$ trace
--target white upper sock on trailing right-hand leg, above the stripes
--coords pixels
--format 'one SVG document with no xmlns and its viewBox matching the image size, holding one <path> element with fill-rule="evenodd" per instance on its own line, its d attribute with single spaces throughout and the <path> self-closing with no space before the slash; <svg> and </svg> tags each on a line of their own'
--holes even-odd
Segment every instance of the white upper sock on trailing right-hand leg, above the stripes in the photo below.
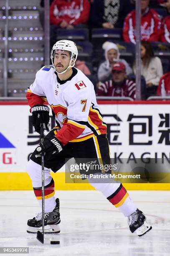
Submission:
<svg viewBox="0 0 170 256">
<path fill-rule="evenodd" d="M 94 174 L 95 177 L 96 174 Z M 99 173 L 99 175 L 102 175 Z M 89 183 L 97 190 L 103 193 L 105 197 L 112 195 L 120 186 L 120 183 L 114 181 L 114 179 L 104 179 L 104 178 L 89 178 Z"/>
</svg>

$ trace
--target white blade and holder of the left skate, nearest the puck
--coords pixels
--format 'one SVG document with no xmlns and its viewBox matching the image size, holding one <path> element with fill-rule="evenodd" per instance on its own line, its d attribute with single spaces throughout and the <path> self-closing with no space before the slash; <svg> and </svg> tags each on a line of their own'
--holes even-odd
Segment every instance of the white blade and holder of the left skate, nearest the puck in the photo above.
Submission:
<svg viewBox="0 0 170 256">
<path fill-rule="evenodd" d="M 27 233 L 36 234 L 38 231 L 42 232 L 42 227 L 33 228 L 30 226 L 27 226 Z M 47 225 L 44 227 L 44 234 L 51 234 L 51 233 L 53 233 L 53 234 L 60 233 L 59 225 Z"/>
</svg>

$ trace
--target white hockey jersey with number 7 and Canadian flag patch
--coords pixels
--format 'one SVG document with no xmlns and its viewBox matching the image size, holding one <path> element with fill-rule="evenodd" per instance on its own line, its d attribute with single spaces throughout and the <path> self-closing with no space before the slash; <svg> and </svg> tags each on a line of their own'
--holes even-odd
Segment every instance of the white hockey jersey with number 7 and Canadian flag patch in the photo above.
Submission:
<svg viewBox="0 0 170 256">
<path fill-rule="evenodd" d="M 79 69 L 73 68 L 71 77 L 61 81 L 51 65 L 41 68 L 26 97 L 31 108 L 48 101 L 60 129 L 56 137 L 63 145 L 107 133 L 94 86 Z"/>
</svg>

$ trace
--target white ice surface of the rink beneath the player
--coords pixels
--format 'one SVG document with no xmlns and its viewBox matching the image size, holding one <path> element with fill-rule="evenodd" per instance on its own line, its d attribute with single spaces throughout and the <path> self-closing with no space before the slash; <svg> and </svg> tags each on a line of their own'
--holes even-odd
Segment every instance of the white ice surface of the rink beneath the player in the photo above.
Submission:
<svg viewBox="0 0 170 256">
<path fill-rule="evenodd" d="M 170 191 L 129 191 L 152 230 L 132 234 L 124 218 L 101 193 L 59 191 L 61 233 L 45 235 L 41 244 L 26 232 L 27 220 L 40 212 L 33 191 L 0 192 L 0 246 L 29 247 L 29 256 L 168 256 Z M 60 241 L 51 245 L 50 241 Z M 9 254 L 2 254 L 9 255 Z"/>
</svg>

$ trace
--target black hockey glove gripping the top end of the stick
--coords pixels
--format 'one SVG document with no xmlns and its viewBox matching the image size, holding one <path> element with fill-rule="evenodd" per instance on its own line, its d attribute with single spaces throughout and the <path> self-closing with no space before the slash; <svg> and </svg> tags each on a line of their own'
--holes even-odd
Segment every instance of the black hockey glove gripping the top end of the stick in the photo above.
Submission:
<svg viewBox="0 0 170 256">
<path fill-rule="evenodd" d="M 44 123 L 46 126 L 46 130 L 48 130 L 48 123 L 50 121 L 49 117 L 49 108 L 46 105 L 34 105 L 31 108 L 32 115 L 32 123 L 37 133 L 40 133 L 40 125 Z"/>
</svg>

